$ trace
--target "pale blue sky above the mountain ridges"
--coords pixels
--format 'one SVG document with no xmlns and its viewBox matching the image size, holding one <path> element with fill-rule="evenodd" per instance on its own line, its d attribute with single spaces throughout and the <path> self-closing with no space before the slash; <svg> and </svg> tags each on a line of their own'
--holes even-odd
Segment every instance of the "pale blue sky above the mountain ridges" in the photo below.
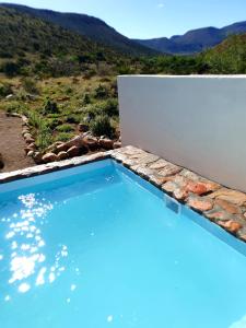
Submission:
<svg viewBox="0 0 246 328">
<path fill-rule="evenodd" d="M 7 0 L 8 1 L 8 0 Z M 246 21 L 246 0 L 15 0 L 97 16 L 128 37 L 151 38 Z"/>
</svg>

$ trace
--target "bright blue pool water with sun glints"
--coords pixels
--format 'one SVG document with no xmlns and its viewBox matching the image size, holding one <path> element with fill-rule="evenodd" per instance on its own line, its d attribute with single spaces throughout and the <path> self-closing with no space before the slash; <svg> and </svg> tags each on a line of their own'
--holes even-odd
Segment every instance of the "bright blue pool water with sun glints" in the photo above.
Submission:
<svg viewBox="0 0 246 328">
<path fill-rule="evenodd" d="M 244 253 L 109 160 L 5 184 L 0 327 L 245 328 Z"/>
</svg>

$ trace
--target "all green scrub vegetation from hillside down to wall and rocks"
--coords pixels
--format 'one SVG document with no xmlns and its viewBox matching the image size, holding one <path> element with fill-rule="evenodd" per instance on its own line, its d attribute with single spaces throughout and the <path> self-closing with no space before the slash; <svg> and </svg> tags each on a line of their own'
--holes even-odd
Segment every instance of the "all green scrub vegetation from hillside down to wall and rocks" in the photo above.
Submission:
<svg viewBox="0 0 246 328">
<path fill-rule="evenodd" d="M 0 109 L 28 117 L 39 151 L 79 125 L 117 139 L 117 74 L 246 73 L 246 35 L 197 56 L 134 57 L 3 7 L 0 32 Z"/>
</svg>

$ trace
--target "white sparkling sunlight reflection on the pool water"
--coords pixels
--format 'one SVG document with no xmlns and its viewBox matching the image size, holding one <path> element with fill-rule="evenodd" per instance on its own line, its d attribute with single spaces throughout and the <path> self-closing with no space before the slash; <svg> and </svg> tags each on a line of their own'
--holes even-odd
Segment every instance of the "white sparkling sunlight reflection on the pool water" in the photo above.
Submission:
<svg viewBox="0 0 246 328">
<path fill-rule="evenodd" d="M 52 265 L 46 263 L 45 239 L 40 226 L 45 224 L 46 215 L 54 209 L 50 202 L 44 198 L 38 201 L 38 194 L 22 195 L 19 197 L 21 210 L 10 218 L 3 218 L 1 222 L 10 222 L 5 239 L 10 249 L 9 284 L 16 284 L 20 293 L 28 292 L 32 286 L 52 283 L 65 271 L 61 266 L 62 258 L 68 257 L 68 247 L 59 245 L 55 254 Z M 7 255 L 1 254 L 0 260 Z M 31 279 L 32 277 L 32 279 Z M 75 286 L 72 286 L 74 290 Z M 5 295 L 4 301 L 10 301 L 11 295 Z"/>
</svg>

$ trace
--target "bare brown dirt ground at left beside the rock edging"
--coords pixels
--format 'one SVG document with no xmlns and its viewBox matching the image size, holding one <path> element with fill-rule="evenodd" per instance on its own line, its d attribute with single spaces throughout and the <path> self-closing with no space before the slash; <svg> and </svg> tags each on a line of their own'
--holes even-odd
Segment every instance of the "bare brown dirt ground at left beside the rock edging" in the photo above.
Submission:
<svg viewBox="0 0 246 328">
<path fill-rule="evenodd" d="M 21 119 L 7 117 L 0 112 L 0 153 L 4 162 L 4 167 L 0 169 L 0 173 L 35 165 L 31 157 L 25 156 L 24 148 Z"/>
</svg>

